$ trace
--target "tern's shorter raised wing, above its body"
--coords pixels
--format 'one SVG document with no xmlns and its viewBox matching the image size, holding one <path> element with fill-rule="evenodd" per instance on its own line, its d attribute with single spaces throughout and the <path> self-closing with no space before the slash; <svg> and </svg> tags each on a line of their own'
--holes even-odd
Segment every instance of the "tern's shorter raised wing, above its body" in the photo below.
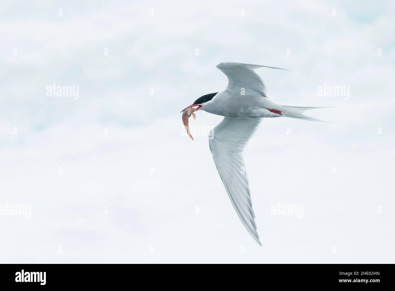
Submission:
<svg viewBox="0 0 395 291">
<path fill-rule="evenodd" d="M 229 80 L 228 87 L 226 87 L 225 91 L 230 91 L 233 94 L 240 94 L 242 88 L 244 88 L 245 95 L 258 94 L 266 97 L 265 85 L 260 76 L 254 72 L 254 69 L 261 67 L 285 70 L 282 68 L 230 62 L 217 65 L 217 68 L 219 68 Z"/>
</svg>

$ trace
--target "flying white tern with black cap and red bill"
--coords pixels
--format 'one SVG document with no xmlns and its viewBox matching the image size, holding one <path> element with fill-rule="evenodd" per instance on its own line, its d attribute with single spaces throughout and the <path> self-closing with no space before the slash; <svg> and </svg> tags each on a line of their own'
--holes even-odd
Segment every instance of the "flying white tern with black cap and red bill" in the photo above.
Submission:
<svg viewBox="0 0 395 291">
<path fill-rule="evenodd" d="M 199 97 L 194 103 L 181 111 L 193 108 L 195 112 L 204 110 L 224 116 L 222 122 L 210 132 L 210 137 L 212 137 L 212 139 L 209 139 L 210 150 L 237 215 L 260 245 L 262 244 L 256 231 L 255 215 L 252 210 L 250 188 L 242 155 L 243 150 L 260 126 L 262 118 L 291 117 L 322 121 L 306 116 L 303 112 L 324 108 L 285 106 L 271 101 L 266 96 L 262 79 L 254 71 L 254 69 L 262 67 L 285 70 L 276 67 L 231 62 L 218 64 L 217 68 L 228 77 L 228 87 L 222 92 Z M 186 120 L 188 120 L 188 117 Z M 188 133 L 188 135 L 190 134 Z"/>
</svg>

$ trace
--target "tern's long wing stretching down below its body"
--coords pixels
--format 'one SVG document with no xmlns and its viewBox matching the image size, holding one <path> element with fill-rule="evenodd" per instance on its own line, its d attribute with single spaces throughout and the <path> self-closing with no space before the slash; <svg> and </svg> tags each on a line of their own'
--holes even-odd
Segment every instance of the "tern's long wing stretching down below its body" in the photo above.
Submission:
<svg viewBox="0 0 395 291">
<path fill-rule="evenodd" d="M 213 128 L 212 139 L 209 139 L 214 163 L 230 201 L 248 232 L 260 245 L 242 154 L 261 121 L 262 118 L 225 117 Z"/>
</svg>

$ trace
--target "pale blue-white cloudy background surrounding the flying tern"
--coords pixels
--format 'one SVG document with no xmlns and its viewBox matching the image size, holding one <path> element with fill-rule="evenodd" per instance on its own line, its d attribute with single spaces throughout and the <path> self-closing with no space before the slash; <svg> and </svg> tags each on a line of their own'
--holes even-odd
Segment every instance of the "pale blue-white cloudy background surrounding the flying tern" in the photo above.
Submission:
<svg viewBox="0 0 395 291">
<path fill-rule="evenodd" d="M 0 4 L 0 260 L 394 262 L 393 1 Z M 198 52 L 198 53 L 197 53 Z M 263 120 L 246 147 L 260 247 L 239 221 L 197 112 L 224 61 L 325 124 Z M 79 86 L 73 97 L 47 86 Z M 318 86 L 348 86 L 320 97 Z M 152 95 L 153 93 L 153 95 Z M 192 132 L 193 133 L 193 132 Z M 302 205 L 303 217 L 271 205 Z"/>
</svg>

